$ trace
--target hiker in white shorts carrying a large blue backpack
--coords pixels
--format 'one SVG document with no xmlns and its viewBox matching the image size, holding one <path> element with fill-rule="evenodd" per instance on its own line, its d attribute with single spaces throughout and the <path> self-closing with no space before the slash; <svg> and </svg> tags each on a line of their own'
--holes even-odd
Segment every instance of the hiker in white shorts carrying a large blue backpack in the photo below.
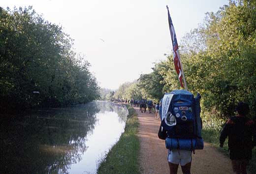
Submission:
<svg viewBox="0 0 256 174">
<path fill-rule="evenodd" d="M 194 98 L 187 90 L 174 90 L 160 100 L 158 137 L 168 149 L 170 174 L 177 174 L 179 164 L 183 174 L 191 174 L 192 151 L 203 149 L 200 98 L 200 94 Z"/>
</svg>

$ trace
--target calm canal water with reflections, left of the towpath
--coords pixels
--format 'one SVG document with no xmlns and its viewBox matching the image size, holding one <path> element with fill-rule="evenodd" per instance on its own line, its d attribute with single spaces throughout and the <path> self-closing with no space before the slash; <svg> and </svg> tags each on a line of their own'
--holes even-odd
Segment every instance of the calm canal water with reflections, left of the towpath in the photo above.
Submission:
<svg viewBox="0 0 256 174">
<path fill-rule="evenodd" d="M 0 174 L 96 174 L 127 116 L 108 102 L 9 116 L 0 123 Z"/>
</svg>

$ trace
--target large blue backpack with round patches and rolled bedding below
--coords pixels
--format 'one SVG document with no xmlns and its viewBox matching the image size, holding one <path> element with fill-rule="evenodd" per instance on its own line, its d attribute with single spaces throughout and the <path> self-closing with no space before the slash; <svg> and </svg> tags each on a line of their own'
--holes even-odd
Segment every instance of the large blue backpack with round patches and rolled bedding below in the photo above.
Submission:
<svg viewBox="0 0 256 174">
<path fill-rule="evenodd" d="M 168 149 L 203 149 L 200 94 L 187 90 L 165 93 L 160 101 L 161 126 L 167 132 Z"/>
</svg>

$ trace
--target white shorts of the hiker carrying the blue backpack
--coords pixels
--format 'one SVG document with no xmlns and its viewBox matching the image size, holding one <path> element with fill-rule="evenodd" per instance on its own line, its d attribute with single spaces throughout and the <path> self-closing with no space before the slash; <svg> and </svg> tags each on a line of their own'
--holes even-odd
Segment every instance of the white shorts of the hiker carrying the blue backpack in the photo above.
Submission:
<svg viewBox="0 0 256 174">
<path fill-rule="evenodd" d="M 192 161 L 192 151 L 173 149 L 168 150 L 168 162 L 185 166 Z"/>
</svg>

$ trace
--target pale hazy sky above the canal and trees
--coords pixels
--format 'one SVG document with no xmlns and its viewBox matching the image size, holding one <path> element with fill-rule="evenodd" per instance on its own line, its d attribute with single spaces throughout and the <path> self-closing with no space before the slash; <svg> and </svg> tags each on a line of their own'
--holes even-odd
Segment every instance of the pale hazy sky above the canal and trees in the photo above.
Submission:
<svg viewBox="0 0 256 174">
<path fill-rule="evenodd" d="M 29 6 L 74 39 L 74 48 L 86 55 L 101 87 L 150 73 L 153 62 L 171 50 L 166 5 L 178 44 L 228 0 L 1 0 L 0 6 Z M 181 58 L 182 59 L 182 58 Z M 186 72 L 185 72 L 186 73 Z"/>
</svg>

